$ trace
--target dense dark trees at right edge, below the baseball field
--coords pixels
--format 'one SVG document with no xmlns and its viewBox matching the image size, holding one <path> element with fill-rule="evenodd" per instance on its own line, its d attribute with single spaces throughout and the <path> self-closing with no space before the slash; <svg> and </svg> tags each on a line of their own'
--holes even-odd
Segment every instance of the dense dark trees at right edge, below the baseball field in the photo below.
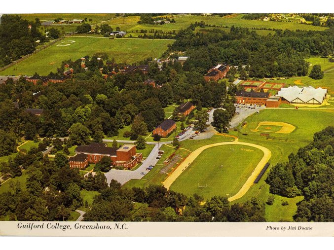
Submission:
<svg viewBox="0 0 334 250">
<path fill-rule="evenodd" d="M 334 127 L 314 134 L 313 142 L 289 155 L 269 173 L 270 192 L 286 197 L 303 195 L 296 221 L 334 221 Z"/>
</svg>

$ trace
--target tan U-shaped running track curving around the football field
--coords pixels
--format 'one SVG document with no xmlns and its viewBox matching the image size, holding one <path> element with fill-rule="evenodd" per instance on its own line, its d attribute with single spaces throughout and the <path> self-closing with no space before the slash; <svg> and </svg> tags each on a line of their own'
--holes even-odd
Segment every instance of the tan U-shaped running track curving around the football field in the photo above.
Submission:
<svg viewBox="0 0 334 250">
<path fill-rule="evenodd" d="M 222 134 L 221 134 L 222 135 Z M 227 135 L 225 135 L 227 136 Z M 268 160 L 271 157 L 271 151 L 263 146 L 253 144 L 253 143 L 243 143 L 243 142 L 238 142 L 238 138 L 235 138 L 235 141 L 233 142 L 224 142 L 224 143 L 213 143 L 209 145 L 204 145 L 199 148 L 197 148 L 195 151 L 191 152 L 189 156 L 177 167 L 177 169 L 174 170 L 174 172 L 163 182 L 163 185 L 169 189 L 172 183 L 182 174 L 184 170 L 197 158 L 197 156 L 202 153 L 205 149 L 214 147 L 214 146 L 221 146 L 221 145 L 247 145 L 247 146 L 252 146 L 255 148 L 260 149 L 263 151 L 263 157 L 258 163 L 258 165 L 255 167 L 253 170 L 252 174 L 250 177 L 246 180 L 244 185 L 241 187 L 241 189 L 233 196 L 228 198 L 228 201 L 234 201 L 236 199 L 241 198 L 246 194 L 248 189 L 253 185 L 254 180 L 258 177 L 260 174 L 261 170 L 263 169 L 264 165 L 268 162 Z"/>
</svg>

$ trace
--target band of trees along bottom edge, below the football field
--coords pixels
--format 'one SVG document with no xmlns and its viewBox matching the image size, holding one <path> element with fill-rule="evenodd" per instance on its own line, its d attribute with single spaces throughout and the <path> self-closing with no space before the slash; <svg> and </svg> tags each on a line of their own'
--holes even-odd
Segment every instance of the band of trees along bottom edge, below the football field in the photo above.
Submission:
<svg viewBox="0 0 334 250">
<path fill-rule="evenodd" d="M 163 186 L 120 188 L 111 181 L 93 201 L 85 221 L 265 221 L 264 204 L 253 198 L 230 206 L 226 197 L 214 196 L 204 206 L 203 197 L 168 191 Z M 134 202 L 142 208 L 134 211 Z M 176 213 L 181 209 L 182 213 Z"/>
</svg>

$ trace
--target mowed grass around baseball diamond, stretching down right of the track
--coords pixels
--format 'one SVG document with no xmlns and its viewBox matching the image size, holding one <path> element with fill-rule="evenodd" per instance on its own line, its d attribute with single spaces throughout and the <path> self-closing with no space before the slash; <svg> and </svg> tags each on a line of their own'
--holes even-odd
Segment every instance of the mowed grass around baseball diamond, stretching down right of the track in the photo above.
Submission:
<svg viewBox="0 0 334 250">
<path fill-rule="evenodd" d="M 238 200 L 232 202 L 243 203 L 256 197 L 266 202 L 269 193 L 269 185 L 265 183 L 270 169 L 280 162 L 287 162 L 291 153 L 297 153 L 300 147 L 306 146 L 313 140 L 315 132 L 321 131 L 327 126 L 334 124 L 334 110 L 324 109 L 264 109 L 259 114 L 255 113 L 246 118 L 247 126 L 239 126 L 239 131 L 231 131 L 230 134 L 239 137 L 240 142 L 255 143 L 268 148 L 271 153 L 270 167 L 264 173 L 259 183 L 254 184 L 247 193 Z M 265 132 L 270 135 L 269 139 L 260 136 L 261 132 L 251 132 L 261 121 L 281 121 L 294 125 L 296 129 L 291 134 L 277 134 Z M 263 133 L 263 132 L 262 132 Z M 243 135 L 244 134 L 244 135 Z M 303 197 L 286 198 L 275 195 L 274 205 L 266 206 L 265 218 L 267 221 L 292 221 L 296 213 L 296 203 Z M 288 206 L 282 206 L 282 201 L 288 201 Z"/>
</svg>

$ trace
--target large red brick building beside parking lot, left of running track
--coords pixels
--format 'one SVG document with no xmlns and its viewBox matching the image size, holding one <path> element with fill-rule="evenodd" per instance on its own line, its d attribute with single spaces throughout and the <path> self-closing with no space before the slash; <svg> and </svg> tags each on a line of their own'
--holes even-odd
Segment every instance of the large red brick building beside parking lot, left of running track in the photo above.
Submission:
<svg viewBox="0 0 334 250">
<path fill-rule="evenodd" d="M 125 144 L 120 148 L 107 147 L 105 143 L 92 143 L 90 145 L 77 146 L 76 154 L 83 153 L 87 156 L 87 161 L 97 163 L 104 156 L 111 159 L 113 166 L 131 169 L 142 161 L 143 155 L 136 152 L 136 145 Z"/>
</svg>

